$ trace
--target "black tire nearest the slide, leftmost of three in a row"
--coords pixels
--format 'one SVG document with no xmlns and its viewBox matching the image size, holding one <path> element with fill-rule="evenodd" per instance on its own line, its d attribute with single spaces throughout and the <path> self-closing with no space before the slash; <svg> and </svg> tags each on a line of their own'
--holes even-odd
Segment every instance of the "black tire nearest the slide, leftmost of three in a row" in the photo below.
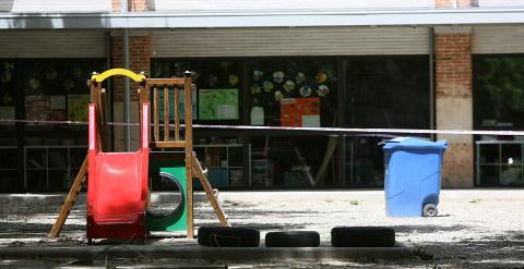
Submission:
<svg viewBox="0 0 524 269">
<path fill-rule="evenodd" d="M 201 227 L 196 239 L 202 246 L 258 247 L 260 231 L 239 227 Z"/>
</svg>

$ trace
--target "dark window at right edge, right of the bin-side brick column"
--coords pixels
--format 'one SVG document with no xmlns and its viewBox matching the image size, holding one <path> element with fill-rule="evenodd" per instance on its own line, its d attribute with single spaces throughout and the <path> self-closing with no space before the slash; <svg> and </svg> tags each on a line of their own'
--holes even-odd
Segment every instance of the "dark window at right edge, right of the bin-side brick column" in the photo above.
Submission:
<svg viewBox="0 0 524 269">
<path fill-rule="evenodd" d="M 474 126 L 524 129 L 524 56 L 474 56 Z M 524 137 L 476 138 L 476 184 L 524 185 Z"/>
</svg>

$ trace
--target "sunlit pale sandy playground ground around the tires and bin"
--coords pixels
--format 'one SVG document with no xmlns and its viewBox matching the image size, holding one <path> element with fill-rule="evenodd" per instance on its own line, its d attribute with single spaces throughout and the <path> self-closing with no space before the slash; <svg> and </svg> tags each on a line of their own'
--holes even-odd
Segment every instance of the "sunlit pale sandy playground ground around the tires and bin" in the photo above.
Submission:
<svg viewBox="0 0 524 269">
<path fill-rule="evenodd" d="M 236 227 L 266 232 L 313 230 L 330 246 L 337 225 L 384 225 L 396 241 L 415 253 L 408 260 L 266 260 L 235 264 L 204 262 L 201 268 L 524 268 L 524 189 L 442 191 L 439 216 L 389 218 L 382 191 L 221 192 L 219 200 Z M 4 199 L 5 200 L 5 199 Z M 0 247 L 85 245 L 85 203 L 72 210 L 59 240 L 47 240 L 60 203 L 7 201 L 0 206 Z M 209 203 L 195 204 L 195 225 L 216 224 Z M 183 240 L 182 240 L 183 241 Z M 177 244 L 163 239 L 150 244 Z M 140 255 L 139 255 L 140 256 Z M 140 257 L 139 257 L 140 258 Z M 75 265 L 71 260 L 1 260 L 0 267 L 171 267 L 176 259 L 102 260 Z M 189 266 L 189 265 L 188 265 Z M 195 265 L 192 265 L 195 266 Z M 183 267 L 183 266 L 182 266 Z M 194 268 L 194 267 L 193 267 Z"/>
</svg>

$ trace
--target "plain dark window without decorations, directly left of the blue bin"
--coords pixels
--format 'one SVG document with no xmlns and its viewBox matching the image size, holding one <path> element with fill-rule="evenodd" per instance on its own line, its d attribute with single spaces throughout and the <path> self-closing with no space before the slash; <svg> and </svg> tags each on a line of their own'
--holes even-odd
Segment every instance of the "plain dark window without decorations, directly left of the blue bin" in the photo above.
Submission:
<svg viewBox="0 0 524 269">
<path fill-rule="evenodd" d="M 345 68 L 346 122 L 352 127 L 428 129 L 427 56 L 350 58 Z M 345 136 L 345 184 L 382 186 L 378 146 L 391 135 Z"/>
</svg>

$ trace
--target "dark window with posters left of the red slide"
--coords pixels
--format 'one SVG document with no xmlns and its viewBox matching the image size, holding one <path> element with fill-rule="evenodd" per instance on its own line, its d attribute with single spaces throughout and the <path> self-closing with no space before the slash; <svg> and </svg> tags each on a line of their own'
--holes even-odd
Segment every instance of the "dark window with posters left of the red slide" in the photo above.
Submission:
<svg viewBox="0 0 524 269">
<path fill-rule="evenodd" d="M 20 68 L 26 120 L 87 122 L 86 80 L 92 72 L 105 70 L 105 59 L 36 59 L 21 61 Z M 85 126 L 28 123 L 26 131 L 83 131 Z"/>
</svg>

